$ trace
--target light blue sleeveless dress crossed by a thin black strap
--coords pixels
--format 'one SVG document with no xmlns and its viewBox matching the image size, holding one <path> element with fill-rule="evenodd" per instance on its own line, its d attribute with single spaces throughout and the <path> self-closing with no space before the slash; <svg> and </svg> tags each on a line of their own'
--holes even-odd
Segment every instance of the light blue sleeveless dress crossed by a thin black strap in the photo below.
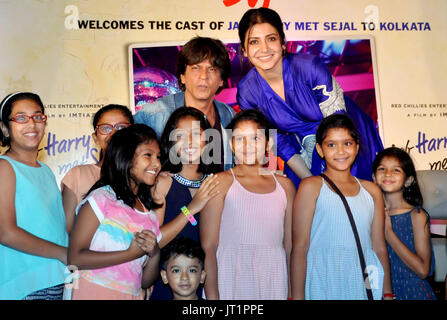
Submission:
<svg viewBox="0 0 447 320">
<path fill-rule="evenodd" d="M 322 178 L 323 179 L 323 178 Z M 382 298 L 383 268 L 372 248 L 374 200 L 361 183 L 346 197 L 359 233 L 375 300 Z M 306 300 L 367 299 L 360 260 L 346 209 L 338 194 L 322 182 L 310 233 L 305 285 Z"/>
</svg>

